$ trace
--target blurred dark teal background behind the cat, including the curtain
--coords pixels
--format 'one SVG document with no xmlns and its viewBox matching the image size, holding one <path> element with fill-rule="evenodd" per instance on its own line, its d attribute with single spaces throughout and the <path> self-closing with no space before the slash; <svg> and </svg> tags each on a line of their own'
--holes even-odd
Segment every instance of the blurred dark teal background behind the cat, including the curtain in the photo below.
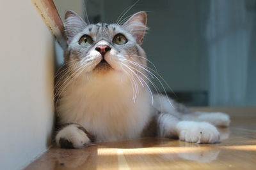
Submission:
<svg viewBox="0 0 256 170">
<path fill-rule="evenodd" d="M 147 11 L 149 31 L 143 48 L 172 88 L 174 93 L 164 85 L 169 96 L 188 106 L 256 106 L 255 0 L 54 3 L 62 20 L 67 10 L 86 20 L 87 11 L 91 23 L 113 23 L 124 13 L 125 20 Z"/>
</svg>

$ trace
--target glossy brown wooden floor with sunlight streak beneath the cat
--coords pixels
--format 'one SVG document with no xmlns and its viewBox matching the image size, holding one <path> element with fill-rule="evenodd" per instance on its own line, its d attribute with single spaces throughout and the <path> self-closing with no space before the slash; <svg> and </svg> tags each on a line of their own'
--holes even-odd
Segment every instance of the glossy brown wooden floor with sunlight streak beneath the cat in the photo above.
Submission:
<svg viewBox="0 0 256 170">
<path fill-rule="evenodd" d="M 145 138 L 74 150 L 53 147 L 26 169 L 256 169 L 256 109 L 239 109 L 244 111 L 221 110 L 230 113 L 232 124 L 220 129 L 218 144 Z"/>
</svg>

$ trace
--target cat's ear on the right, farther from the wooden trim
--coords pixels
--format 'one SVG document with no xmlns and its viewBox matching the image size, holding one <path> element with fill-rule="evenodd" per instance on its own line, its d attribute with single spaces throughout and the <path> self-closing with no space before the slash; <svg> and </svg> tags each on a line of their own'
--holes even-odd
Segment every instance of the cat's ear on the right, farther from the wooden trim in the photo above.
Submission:
<svg viewBox="0 0 256 170">
<path fill-rule="evenodd" d="M 139 45 L 143 43 L 144 34 L 147 31 L 147 13 L 140 11 L 132 15 L 127 22 L 124 23 L 124 27 L 136 38 Z"/>
</svg>

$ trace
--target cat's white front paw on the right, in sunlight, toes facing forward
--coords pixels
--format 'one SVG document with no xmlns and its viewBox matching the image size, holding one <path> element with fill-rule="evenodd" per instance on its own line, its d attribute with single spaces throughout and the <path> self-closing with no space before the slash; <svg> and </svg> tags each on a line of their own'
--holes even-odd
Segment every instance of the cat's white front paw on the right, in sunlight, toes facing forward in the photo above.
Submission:
<svg viewBox="0 0 256 170">
<path fill-rule="evenodd" d="M 177 124 L 179 139 L 191 143 L 217 143 L 220 141 L 220 132 L 206 122 L 182 121 Z"/>
</svg>

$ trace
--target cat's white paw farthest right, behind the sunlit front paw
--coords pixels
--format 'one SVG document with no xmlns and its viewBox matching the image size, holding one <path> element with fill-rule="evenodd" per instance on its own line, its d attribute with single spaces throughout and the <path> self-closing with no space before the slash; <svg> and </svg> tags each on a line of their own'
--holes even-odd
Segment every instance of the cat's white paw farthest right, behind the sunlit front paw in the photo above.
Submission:
<svg viewBox="0 0 256 170">
<path fill-rule="evenodd" d="M 203 113 L 198 116 L 200 121 L 209 122 L 212 125 L 228 127 L 230 124 L 230 118 L 226 113 Z"/>
</svg>

